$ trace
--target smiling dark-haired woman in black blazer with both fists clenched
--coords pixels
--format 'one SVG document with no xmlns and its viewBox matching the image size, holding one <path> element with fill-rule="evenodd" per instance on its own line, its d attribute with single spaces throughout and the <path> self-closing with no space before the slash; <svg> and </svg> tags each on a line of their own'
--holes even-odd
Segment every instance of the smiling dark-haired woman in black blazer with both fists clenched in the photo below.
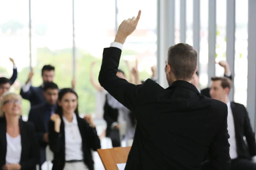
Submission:
<svg viewBox="0 0 256 170">
<path fill-rule="evenodd" d="M 100 140 L 91 117 L 79 117 L 77 99 L 70 88 L 59 91 L 56 113 L 49 121 L 52 170 L 94 170 L 91 149 L 99 149 Z"/>
</svg>

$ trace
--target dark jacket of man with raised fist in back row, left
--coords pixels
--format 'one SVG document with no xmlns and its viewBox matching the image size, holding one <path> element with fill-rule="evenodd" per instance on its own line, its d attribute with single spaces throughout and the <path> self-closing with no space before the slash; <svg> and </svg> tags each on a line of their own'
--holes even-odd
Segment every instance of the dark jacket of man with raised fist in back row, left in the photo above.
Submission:
<svg viewBox="0 0 256 170">
<path fill-rule="evenodd" d="M 20 95 L 23 99 L 29 100 L 31 108 L 34 106 L 43 105 L 46 102 L 45 97 L 43 95 L 43 88 L 41 86 L 30 86 L 29 91 L 27 91 L 26 93 L 24 93 L 24 91 L 21 88 Z"/>
</svg>

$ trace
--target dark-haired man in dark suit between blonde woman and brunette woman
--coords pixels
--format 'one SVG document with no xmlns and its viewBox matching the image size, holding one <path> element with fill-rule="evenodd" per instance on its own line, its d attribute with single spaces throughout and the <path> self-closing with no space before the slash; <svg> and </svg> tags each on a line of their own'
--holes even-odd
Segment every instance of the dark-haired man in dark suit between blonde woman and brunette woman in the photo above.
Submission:
<svg viewBox="0 0 256 170">
<path fill-rule="evenodd" d="M 28 119 L 29 122 L 35 125 L 35 132 L 40 144 L 40 166 L 46 161 L 45 148 L 48 144 L 48 122 L 56 108 L 58 86 L 54 82 L 45 83 L 43 95 L 46 103 L 32 108 Z"/>
</svg>

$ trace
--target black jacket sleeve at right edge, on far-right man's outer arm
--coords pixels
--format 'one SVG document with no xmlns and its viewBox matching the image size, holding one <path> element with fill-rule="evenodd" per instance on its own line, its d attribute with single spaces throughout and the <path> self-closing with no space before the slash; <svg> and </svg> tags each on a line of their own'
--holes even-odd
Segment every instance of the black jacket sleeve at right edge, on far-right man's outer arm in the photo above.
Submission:
<svg viewBox="0 0 256 170">
<path fill-rule="evenodd" d="M 247 141 L 247 144 L 249 147 L 250 156 L 256 156 L 255 136 L 254 136 L 251 124 L 250 124 L 250 118 L 248 116 L 248 113 L 247 113 L 247 110 L 245 107 L 244 107 L 244 113 L 245 113 L 244 136 L 246 138 L 246 141 Z"/>
</svg>

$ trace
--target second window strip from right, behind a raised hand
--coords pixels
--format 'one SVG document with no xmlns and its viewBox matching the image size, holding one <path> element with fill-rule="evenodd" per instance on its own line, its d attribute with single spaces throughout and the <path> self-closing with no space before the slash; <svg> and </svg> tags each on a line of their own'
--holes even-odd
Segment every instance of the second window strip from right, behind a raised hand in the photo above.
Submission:
<svg viewBox="0 0 256 170">
<path fill-rule="evenodd" d="M 216 0 L 216 61 L 226 60 L 227 0 Z M 209 61 L 214 62 L 214 61 Z M 216 76 L 224 75 L 224 68 L 215 65 Z"/>
</svg>

